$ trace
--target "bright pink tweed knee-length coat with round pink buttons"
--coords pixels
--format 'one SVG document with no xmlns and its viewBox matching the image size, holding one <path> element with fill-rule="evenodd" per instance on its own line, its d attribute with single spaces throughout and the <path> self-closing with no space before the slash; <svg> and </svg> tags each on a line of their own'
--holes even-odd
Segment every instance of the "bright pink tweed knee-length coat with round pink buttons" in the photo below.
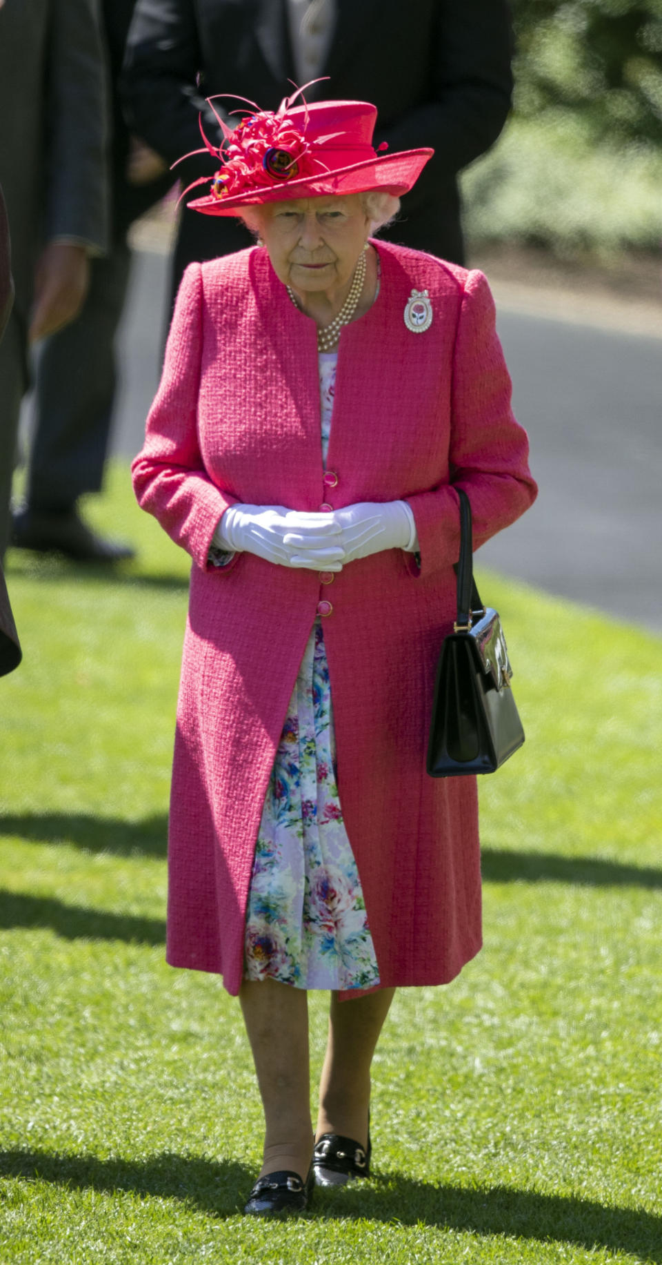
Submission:
<svg viewBox="0 0 662 1265">
<path fill-rule="evenodd" d="M 373 243 L 382 285 L 340 338 L 327 473 L 316 326 L 264 249 L 191 264 L 133 466 L 143 509 L 193 558 L 169 822 L 168 961 L 236 993 L 267 783 L 321 600 L 337 784 L 382 984 L 438 984 L 481 944 L 472 778 L 424 770 L 435 667 L 455 614 L 459 501 L 476 545 L 533 501 L 524 430 L 484 276 Z M 433 321 L 412 333 L 412 292 Z M 454 486 L 455 484 L 455 486 Z M 236 502 L 317 510 L 406 498 L 419 541 L 354 562 L 332 584 L 238 554 L 207 564 Z"/>
</svg>

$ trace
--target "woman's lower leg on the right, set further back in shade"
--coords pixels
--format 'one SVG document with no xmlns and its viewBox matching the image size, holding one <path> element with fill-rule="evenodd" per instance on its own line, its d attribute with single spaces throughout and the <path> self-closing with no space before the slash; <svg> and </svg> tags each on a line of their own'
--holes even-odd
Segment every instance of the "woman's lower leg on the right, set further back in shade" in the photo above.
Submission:
<svg viewBox="0 0 662 1265">
<path fill-rule="evenodd" d="M 331 994 L 316 1137 L 341 1133 L 368 1146 L 370 1064 L 394 988 L 339 1002 Z"/>
</svg>

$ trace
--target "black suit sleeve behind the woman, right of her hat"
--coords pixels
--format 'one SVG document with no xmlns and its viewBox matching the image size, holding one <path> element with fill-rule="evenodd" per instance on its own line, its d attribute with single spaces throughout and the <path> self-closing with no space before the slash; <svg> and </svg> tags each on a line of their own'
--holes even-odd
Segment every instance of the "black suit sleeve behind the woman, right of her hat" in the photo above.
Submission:
<svg viewBox="0 0 662 1265">
<path fill-rule="evenodd" d="M 496 140 L 513 91 L 513 37 L 505 0 L 437 0 L 428 100 L 379 132 L 390 149 L 432 145 L 452 176 Z M 416 197 L 416 194 L 414 194 Z"/>
</svg>

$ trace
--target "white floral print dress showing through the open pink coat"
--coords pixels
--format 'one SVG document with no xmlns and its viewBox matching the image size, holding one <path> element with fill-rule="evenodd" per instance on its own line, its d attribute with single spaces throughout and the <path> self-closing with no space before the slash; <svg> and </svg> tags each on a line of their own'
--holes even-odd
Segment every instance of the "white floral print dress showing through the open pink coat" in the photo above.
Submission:
<svg viewBox="0 0 662 1265">
<path fill-rule="evenodd" d="M 326 466 L 337 353 L 320 354 Z M 267 788 L 246 907 L 245 978 L 374 988 L 379 970 L 335 774 L 321 620 L 312 627 Z"/>
</svg>

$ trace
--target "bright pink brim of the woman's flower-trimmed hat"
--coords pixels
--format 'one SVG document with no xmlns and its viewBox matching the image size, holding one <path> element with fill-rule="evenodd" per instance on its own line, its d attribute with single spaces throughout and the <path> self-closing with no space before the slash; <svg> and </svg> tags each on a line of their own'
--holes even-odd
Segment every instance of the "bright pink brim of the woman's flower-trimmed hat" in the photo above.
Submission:
<svg viewBox="0 0 662 1265">
<path fill-rule="evenodd" d="M 382 190 L 400 197 L 416 185 L 433 149 L 406 149 L 402 153 L 383 154 L 352 163 L 339 171 L 325 171 L 318 176 L 299 176 L 298 180 L 251 188 L 230 197 L 196 197 L 187 202 L 193 211 L 203 215 L 235 215 L 241 206 L 262 206 L 265 202 L 284 202 L 294 197 L 323 197 L 323 195 L 349 196 Z"/>
</svg>

